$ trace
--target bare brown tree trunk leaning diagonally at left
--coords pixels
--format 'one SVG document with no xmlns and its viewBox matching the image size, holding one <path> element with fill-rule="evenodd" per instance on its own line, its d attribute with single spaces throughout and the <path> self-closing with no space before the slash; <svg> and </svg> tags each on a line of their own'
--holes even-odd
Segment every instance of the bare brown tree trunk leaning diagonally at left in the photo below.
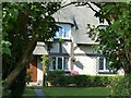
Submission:
<svg viewBox="0 0 131 98">
<path fill-rule="evenodd" d="M 32 52 L 33 52 L 33 50 L 34 50 L 34 48 L 36 46 L 37 40 L 38 40 L 38 35 L 36 35 L 35 38 L 33 38 L 32 41 L 28 42 L 28 45 L 27 45 L 28 47 L 25 50 L 25 53 L 22 56 L 22 59 L 17 63 L 16 68 L 5 78 L 5 83 L 8 85 L 5 87 L 3 87 L 3 89 L 8 89 L 11 86 L 11 84 L 16 78 L 16 76 L 19 75 L 19 73 L 26 65 L 26 62 L 27 62 L 28 58 L 31 57 L 31 54 L 32 54 Z"/>
</svg>

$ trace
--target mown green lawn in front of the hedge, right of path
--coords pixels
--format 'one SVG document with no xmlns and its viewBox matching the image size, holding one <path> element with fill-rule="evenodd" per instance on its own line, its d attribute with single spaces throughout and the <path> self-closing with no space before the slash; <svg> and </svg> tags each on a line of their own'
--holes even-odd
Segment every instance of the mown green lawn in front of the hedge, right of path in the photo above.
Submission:
<svg viewBox="0 0 131 98">
<path fill-rule="evenodd" d="M 44 87 L 44 93 L 47 96 L 92 96 L 92 97 L 105 97 L 108 96 L 110 89 L 107 87 Z"/>
</svg>

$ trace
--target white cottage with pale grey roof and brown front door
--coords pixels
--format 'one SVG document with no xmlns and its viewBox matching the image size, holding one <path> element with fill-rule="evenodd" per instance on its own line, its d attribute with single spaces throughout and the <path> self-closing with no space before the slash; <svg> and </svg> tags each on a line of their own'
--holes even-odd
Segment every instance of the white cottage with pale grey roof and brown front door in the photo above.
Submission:
<svg viewBox="0 0 131 98">
<path fill-rule="evenodd" d="M 94 9 L 98 10 L 95 5 Z M 94 16 L 95 12 L 90 8 L 68 5 L 56 12 L 52 16 L 59 30 L 56 32 L 53 39 L 48 40 L 51 48 L 46 42 L 38 41 L 33 51 L 34 61 L 29 64 L 32 73 L 32 83 L 43 85 L 43 65 L 40 56 L 47 54 L 50 58 L 49 70 L 63 70 L 66 72 L 74 71 L 76 74 L 110 74 L 108 61 L 96 51 L 98 42 L 88 37 L 87 24 L 102 26 Z"/>
</svg>

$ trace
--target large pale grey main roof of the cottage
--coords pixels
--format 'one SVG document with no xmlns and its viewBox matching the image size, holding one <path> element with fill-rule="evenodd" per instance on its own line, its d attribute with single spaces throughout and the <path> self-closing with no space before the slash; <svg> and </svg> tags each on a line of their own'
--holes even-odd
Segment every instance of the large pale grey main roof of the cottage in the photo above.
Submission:
<svg viewBox="0 0 131 98">
<path fill-rule="evenodd" d="M 94 8 L 98 10 L 96 7 Z M 98 17 L 95 17 L 94 14 L 95 12 L 86 5 L 75 7 L 72 4 L 60 9 L 52 16 L 56 22 L 70 23 L 74 25 L 71 33 L 73 42 L 93 44 L 94 40 L 92 40 L 87 35 L 87 24 L 95 26 L 104 25 L 99 23 Z M 107 25 L 107 23 L 105 23 L 105 25 Z"/>
</svg>

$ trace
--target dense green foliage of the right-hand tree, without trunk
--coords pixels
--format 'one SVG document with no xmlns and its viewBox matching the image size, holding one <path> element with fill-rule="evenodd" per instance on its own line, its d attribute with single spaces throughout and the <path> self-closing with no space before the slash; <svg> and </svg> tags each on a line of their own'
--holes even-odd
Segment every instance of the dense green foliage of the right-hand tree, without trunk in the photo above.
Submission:
<svg viewBox="0 0 131 98">
<path fill-rule="evenodd" d="M 102 13 L 103 16 L 108 15 L 111 24 L 99 35 L 100 49 L 109 56 L 111 66 L 116 70 L 122 68 L 126 75 L 131 74 L 130 9 L 131 3 L 128 2 L 105 4 Z"/>
</svg>

